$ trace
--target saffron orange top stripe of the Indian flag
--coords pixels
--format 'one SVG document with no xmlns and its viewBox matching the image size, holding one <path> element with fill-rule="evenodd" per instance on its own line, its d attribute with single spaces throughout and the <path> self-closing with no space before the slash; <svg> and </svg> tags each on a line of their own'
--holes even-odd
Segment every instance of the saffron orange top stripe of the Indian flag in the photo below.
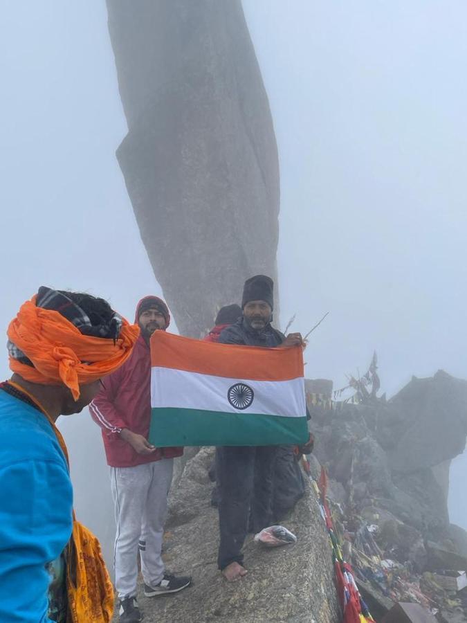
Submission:
<svg viewBox="0 0 467 623">
<path fill-rule="evenodd" d="M 151 337 L 153 367 L 210 374 L 230 379 L 289 381 L 303 377 L 300 347 L 261 348 L 219 344 L 155 331 Z"/>
</svg>

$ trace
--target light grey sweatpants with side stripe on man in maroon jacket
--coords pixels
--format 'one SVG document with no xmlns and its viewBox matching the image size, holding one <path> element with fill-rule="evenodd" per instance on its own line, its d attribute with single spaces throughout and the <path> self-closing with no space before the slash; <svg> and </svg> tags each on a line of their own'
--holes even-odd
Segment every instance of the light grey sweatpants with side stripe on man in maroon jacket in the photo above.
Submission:
<svg viewBox="0 0 467 623">
<path fill-rule="evenodd" d="M 145 584 L 154 586 L 163 578 L 161 549 L 173 468 L 173 459 L 110 468 L 117 524 L 113 564 L 120 599 L 136 595 L 138 550 Z"/>
</svg>

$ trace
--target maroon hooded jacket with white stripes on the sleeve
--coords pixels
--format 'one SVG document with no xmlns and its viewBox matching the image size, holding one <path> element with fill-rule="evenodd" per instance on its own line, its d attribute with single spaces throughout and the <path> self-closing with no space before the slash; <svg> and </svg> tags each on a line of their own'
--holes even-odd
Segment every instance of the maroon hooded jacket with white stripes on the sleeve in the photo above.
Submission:
<svg viewBox="0 0 467 623">
<path fill-rule="evenodd" d="M 136 308 L 137 318 L 143 300 Z M 183 454 L 183 448 L 161 448 L 151 454 L 138 454 L 120 437 L 122 428 L 144 435 L 146 439 L 149 435 L 151 356 L 143 336 L 139 336 L 129 359 L 116 372 L 104 377 L 103 383 L 104 387 L 89 405 L 89 412 L 102 428 L 107 463 L 111 467 L 134 467 Z"/>
</svg>

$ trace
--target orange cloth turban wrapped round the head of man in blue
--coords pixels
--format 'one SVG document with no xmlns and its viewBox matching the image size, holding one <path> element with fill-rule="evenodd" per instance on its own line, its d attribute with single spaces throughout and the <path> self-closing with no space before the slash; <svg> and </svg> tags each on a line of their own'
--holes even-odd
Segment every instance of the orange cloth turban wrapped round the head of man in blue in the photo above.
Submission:
<svg viewBox="0 0 467 623">
<path fill-rule="evenodd" d="M 10 368 L 31 383 L 70 388 L 80 397 L 80 384 L 93 383 L 124 363 L 140 329 L 122 319 L 118 338 L 83 335 L 53 309 L 36 306 L 37 295 L 26 301 L 8 327 L 8 338 L 34 367 L 10 354 Z"/>
</svg>

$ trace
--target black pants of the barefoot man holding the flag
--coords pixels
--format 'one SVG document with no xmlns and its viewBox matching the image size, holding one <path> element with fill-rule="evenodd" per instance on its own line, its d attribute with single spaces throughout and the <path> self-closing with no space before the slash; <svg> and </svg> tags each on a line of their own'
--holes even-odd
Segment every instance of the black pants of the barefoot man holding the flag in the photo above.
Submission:
<svg viewBox="0 0 467 623">
<path fill-rule="evenodd" d="M 248 531 L 271 525 L 273 469 L 277 446 L 223 446 L 216 452 L 221 543 L 217 563 L 224 569 L 243 563 L 241 548 Z"/>
</svg>

